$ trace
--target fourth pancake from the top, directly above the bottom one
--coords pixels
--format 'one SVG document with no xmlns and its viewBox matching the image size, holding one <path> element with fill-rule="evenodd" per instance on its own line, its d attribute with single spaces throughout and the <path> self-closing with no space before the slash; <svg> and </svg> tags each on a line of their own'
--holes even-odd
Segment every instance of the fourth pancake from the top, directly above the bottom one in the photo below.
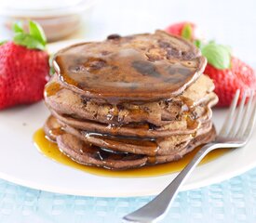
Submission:
<svg viewBox="0 0 256 223">
<path fill-rule="evenodd" d="M 178 135 L 168 138 L 128 138 L 120 136 L 102 135 L 99 133 L 88 133 L 80 131 L 68 125 L 56 125 L 57 120 L 50 116 L 46 123 L 47 135 L 51 138 L 52 131 L 61 131 L 74 135 L 87 144 L 99 146 L 112 151 L 129 152 L 133 154 L 145 154 L 148 156 L 169 155 L 180 151 L 195 137 L 206 134 L 211 129 L 211 123 L 207 122 L 197 129 L 195 135 Z M 53 128 L 53 126 L 58 126 Z M 53 130 L 52 130 L 53 129 Z M 57 132 L 58 133 L 58 132 Z"/>
</svg>

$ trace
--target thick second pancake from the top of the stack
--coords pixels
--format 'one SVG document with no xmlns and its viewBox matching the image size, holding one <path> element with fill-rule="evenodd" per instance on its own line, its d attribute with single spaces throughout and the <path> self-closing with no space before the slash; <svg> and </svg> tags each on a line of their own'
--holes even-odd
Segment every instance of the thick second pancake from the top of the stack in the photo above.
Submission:
<svg viewBox="0 0 256 223">
<path fill-rule="evenodd" d="M 214 97 L 212 93 L 214 85 L 206 75 L 200 76 L 182 93 L 182 96 L 140 105 L 123 103 L 115 106 L 95 99 L 83 98 L 69 89 L 56 87 L 59 82 L 55 75 L 46 86 L 45 100 L 51 110 L 60 114 L 70 114 L 78 119 L 97 120 L 100 123 L 114 125 L 134 122 L 167 125 L 180 118 L 182 112 Z"/>
</svg>

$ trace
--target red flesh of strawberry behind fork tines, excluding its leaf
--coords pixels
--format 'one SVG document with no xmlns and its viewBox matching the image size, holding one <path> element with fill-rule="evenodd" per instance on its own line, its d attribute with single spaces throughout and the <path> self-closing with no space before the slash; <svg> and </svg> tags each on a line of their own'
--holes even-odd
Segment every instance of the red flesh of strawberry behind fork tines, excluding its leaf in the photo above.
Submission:
<svg viewBox="0 0 256 223">
<path fill-rule="evenodd" d="M 249 89 L 256 90 L 256 75 L 252 68 L 240 59 L 231 59 L 231 68 L 217 69 L 208 63 L 205 73 L 213 79 L 215 92 L 219 97 L 218 106 L 229 106 L 240 89 L 241 95 Z"/>
</svg>

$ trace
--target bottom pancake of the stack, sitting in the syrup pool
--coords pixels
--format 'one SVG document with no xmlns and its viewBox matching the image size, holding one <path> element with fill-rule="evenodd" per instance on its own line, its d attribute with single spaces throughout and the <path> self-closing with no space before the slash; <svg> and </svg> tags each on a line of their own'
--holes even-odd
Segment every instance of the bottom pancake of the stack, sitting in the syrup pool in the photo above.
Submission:
<svg viewBox="0 0 256 223">
<path fill-rule="evenodd" d="M 56 125 L 55 125 L 56 127 Z M 215 130 L 212 128 L 209 133 L 194 138 L 185 147 L 168 155 L 146 156 L 128 152 L 116 152 L 106 150 L 86 143 L 72 134 L 67 134 L 57 127 L 57 131 L 51 129 L 50 137 L 55 138 L 61 152 L 80 164 L 102 166 L 110 169 L 127 169 L 140 167 L 146 164 L 163 164 L 181 159 L 184 154 L 192 151 L 196 146 L 207 143 L 215 137 Z"/>
</svg>

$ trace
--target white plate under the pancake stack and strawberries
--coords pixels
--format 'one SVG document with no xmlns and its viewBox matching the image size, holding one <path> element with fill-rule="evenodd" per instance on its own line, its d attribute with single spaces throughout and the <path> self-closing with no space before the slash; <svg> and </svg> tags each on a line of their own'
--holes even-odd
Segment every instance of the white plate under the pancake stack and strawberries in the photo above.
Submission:
<svg viewBox="0 0 256 223">
<path fill-rule="evenodd" d="M 60 47 L 58 45 L 57 47 Z M 176 174 L 161 177 L 98 177 L 57 164 L 34 147 L 33 134 L 47 119 L 43 102 L 0 112 L 0 177 L 38 190 L 86 196 L 154 195 L 163 190 Z M 224 110 L 214 111 L 217 129 Z M 182 190 L 203 187 L 239 175 L 256 166 L 256 131 L 249 144 L 196 167 Z"/>
</svg>

